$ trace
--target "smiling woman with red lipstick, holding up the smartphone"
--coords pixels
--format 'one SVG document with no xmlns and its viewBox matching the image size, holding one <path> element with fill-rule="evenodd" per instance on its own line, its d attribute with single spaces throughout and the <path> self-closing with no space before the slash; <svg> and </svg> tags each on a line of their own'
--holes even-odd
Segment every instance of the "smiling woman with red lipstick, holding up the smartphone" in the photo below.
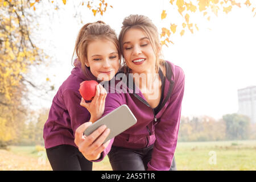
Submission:
<svg viewBox="0 0 256 182">
<path fill-rule="evenodd" d="M 100 161 L 108 154 L 113 170 L 175 169 L 184 72 L 159 58 L 158 30 L 146 16 L 130 15 L 123 20 L 119 44 L 125 60 L 122 71 L 127 77 L 123 80 L 133 83 L 122 84 L 129 92 L 108 94 L 103 115 L 126 104 L 137 123 L 112 139 L 101 155 L 87 149 L 93 141 L 82 138 L 86 124 L 77 128 L 75 143 L 88 160 Z"/>
</svg>

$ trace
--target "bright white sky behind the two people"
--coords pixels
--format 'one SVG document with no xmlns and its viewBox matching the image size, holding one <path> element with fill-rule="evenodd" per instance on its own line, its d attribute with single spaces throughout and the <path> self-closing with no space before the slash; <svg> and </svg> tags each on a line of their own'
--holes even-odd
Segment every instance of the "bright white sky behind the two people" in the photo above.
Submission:
<svg viewBox="0 0 256 182">
<path fill-rule="evenodd" d="M 170 26 L 170 21 L 181 16 L 169 6 L 168 1 L 109 1 L 106 13 L 92 14 L 92 11 L 79 7 L 80 19 L 74 17 L 73 6 L 64 6 L 57 14 L 43 16 L 38 25 L 38 47 L 44 49 L 51 62 L 47 67 L 34 71 L 38 80 L 50 78 L 55 90 L 43 98 L 36 98 L 32 107 L 50 107 L 52 98 L 62 82 L 69 76 L 76 36 L 83 24 L 103 20 L 119 33 L 122 20 L 130 14 L 148 16 L 156 27 Z M 162 10 L 169 18 L 161 20 Z M 40 11 L 37 11 L 40 14 Z M 172 38 L 174 44 L 163 47 L 164 59 L 181 67 L 185 73 L 185 92 L 181 115 L 208 115 L 221 118 L 224 114 L 238 111 L 237 90 L 256 85 L 256 16 L 251 11 L 233 8 L 228 15 L 219 13 L 210 21 L 195 16 L 199 31 Z M 82 23 L 81 23 L 82 20 Z M 31 96 L 33 97 L 33 96 Z"/>
</svg>

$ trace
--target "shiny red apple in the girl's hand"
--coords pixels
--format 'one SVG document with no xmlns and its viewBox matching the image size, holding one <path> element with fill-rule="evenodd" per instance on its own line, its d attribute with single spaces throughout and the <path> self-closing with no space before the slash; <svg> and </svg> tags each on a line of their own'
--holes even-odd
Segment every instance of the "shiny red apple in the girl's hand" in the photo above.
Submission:
<svg viewBox="0 0 256 182">
<path fill-rule="evenodd" d="M 91 101 L 96 94 L 96 86 L 98 82 L 95 80 L 83 81 L 80 84 L 79 92 L 86 101 Z"/>
</svg>

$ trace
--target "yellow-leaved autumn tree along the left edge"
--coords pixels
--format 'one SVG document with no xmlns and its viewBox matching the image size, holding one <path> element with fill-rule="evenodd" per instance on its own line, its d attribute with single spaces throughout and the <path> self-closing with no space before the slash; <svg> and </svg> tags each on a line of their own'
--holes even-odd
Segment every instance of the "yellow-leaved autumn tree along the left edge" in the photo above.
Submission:
<svg viewBox="0 0 256 182">
<path fill-rule="evenodd" d="M 0 1 L 0 141 L 14 140 L 26 115 L 22 98 L 32 65 L 42 62 L 43 52 L 31 39 L 29 1 Z M 23 115 L 23 116 L 22 116 Z"/>
</svg>

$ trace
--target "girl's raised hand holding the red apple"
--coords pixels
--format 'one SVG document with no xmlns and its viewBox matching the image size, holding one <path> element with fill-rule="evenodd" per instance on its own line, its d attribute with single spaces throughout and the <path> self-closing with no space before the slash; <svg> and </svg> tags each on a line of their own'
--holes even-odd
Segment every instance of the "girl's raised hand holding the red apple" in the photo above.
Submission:
<svg viewBox="0 0 256 182">
<path fill-rule="evenodd" d="M 96 86 L 96 94 L 90 103 L 86 103 L 84 98 L 81 99 L 80 105 L 84 106 L 90 112 L 90 122 L 95 122 L 101 117 L 105 109 L 105 100 L 107 92 L 101 84 Z"/>
</svg>

